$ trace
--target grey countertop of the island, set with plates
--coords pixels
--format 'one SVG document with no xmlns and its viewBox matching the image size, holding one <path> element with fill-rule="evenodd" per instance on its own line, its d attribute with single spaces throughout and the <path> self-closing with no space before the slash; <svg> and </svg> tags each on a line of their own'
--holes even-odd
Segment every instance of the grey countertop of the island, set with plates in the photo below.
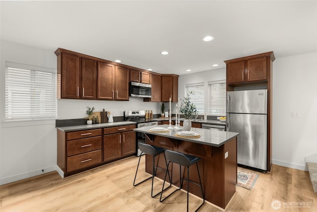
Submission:
<svg viewBox="0 0 317 212">
<path fill-rule="evenodd" d="M 187 139 L 187 138 L 176 137 L 175 134 L 179 131 L 177 131 L 177 132 L 176 131 L 169 131 L 168 133 L 149 132 L 149 130 L 153 127 L 154 126 L 146 126 L 146 127 L 136 128 L 136 129 L 134 129 L 134 131 L 146 133 L 146 134 L 150 134 L 150 135 L 167 137 L 167 138 L 176 139 L 176 140 L 201 143 L 201 144 L 211 145 L 211 146 L 216 146 L 216 147 L 221 146 L 225 142 L 227 142 L 230 139 L 237 137 L 239 135 L 239 133 L 234 133 L 234 132 L 217 131 L 217 130 L 201 129 L 201 128 L 192 128 L 191 131 L 198 133 L 201 137 L 197 138 L 197 139 Z M 159 125 L 159 127 L 167 128 L 168 125 Z M 172 127 L 175 127 L 175 126 L 172 126 Z"/>
</svg>

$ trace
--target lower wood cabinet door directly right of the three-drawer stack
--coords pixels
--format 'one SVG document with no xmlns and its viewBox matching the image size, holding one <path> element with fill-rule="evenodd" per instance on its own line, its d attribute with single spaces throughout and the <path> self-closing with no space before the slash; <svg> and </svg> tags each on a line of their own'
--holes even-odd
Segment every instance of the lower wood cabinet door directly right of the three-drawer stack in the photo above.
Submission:
<svg viewBox="0 0 317 212">
<path fill-rule="evenodd" d="M 104 161 L 121 157 L 121 133 L 104 136 Z"/>
</svg>

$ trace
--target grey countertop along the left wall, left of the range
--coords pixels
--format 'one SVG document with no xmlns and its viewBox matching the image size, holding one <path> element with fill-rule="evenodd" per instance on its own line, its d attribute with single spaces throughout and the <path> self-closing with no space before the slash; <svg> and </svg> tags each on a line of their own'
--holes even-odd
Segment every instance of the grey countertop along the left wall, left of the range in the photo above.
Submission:
<svg viewBox="0 0 317 212">
<path fill-rule="evenodd" d="M 63 132 L 71 132 L 78 130 L 92 130 L 98 128 L 107 128 L 107 127 L 116 127 L 122 125 L 135 125 L 136 122 L 110 122 L 110 123 L 102 123 L 102 124 L 92 124 L 92 125 L 78 125 L 78 126 L 69 126 L 69 127 L 56 127 L 58 130 Z"/>
</svg>

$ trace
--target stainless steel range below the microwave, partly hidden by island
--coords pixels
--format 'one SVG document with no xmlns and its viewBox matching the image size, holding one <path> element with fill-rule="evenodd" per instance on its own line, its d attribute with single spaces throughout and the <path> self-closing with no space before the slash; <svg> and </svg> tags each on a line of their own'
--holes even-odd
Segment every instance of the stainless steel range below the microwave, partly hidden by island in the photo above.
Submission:
<svg viewBox="0 0 317 212">
<path fill-rule="evenodd" d="M 123 114 L 124 121 L 136 122 L 137 128 L 158 125 L 157 120 L 153 119 L 145 119 L 145 110 L 126 110 Z M 144 133 L 137 132 L 136 134 L 136 152 L 137 156 L 140 156 L 141 151 L 138 148 L 138 142 L 145 143 L 145 135 Z"/>
</svg>

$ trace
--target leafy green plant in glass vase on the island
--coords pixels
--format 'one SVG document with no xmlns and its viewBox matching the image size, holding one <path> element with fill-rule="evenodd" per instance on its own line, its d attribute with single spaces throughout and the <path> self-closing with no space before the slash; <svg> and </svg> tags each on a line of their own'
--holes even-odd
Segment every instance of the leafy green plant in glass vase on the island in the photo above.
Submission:
<svg viewBox="0 0 317 212">
<path fill-rule="evenodd" d="M 193 94 L 193 92 L 190 92 L 187 94 L 186 97 L 181 99 L 181 105 L 179 107 L 179 112 L 182 113 L 185 117 L 185 120 L 183 122 L 183 130 L 184 131 L 190 131 L 192 127 L 191 117 L 197 112 L 196 106 L 193 102 L 191 102 L 190 96 Z"/>
</svg>

